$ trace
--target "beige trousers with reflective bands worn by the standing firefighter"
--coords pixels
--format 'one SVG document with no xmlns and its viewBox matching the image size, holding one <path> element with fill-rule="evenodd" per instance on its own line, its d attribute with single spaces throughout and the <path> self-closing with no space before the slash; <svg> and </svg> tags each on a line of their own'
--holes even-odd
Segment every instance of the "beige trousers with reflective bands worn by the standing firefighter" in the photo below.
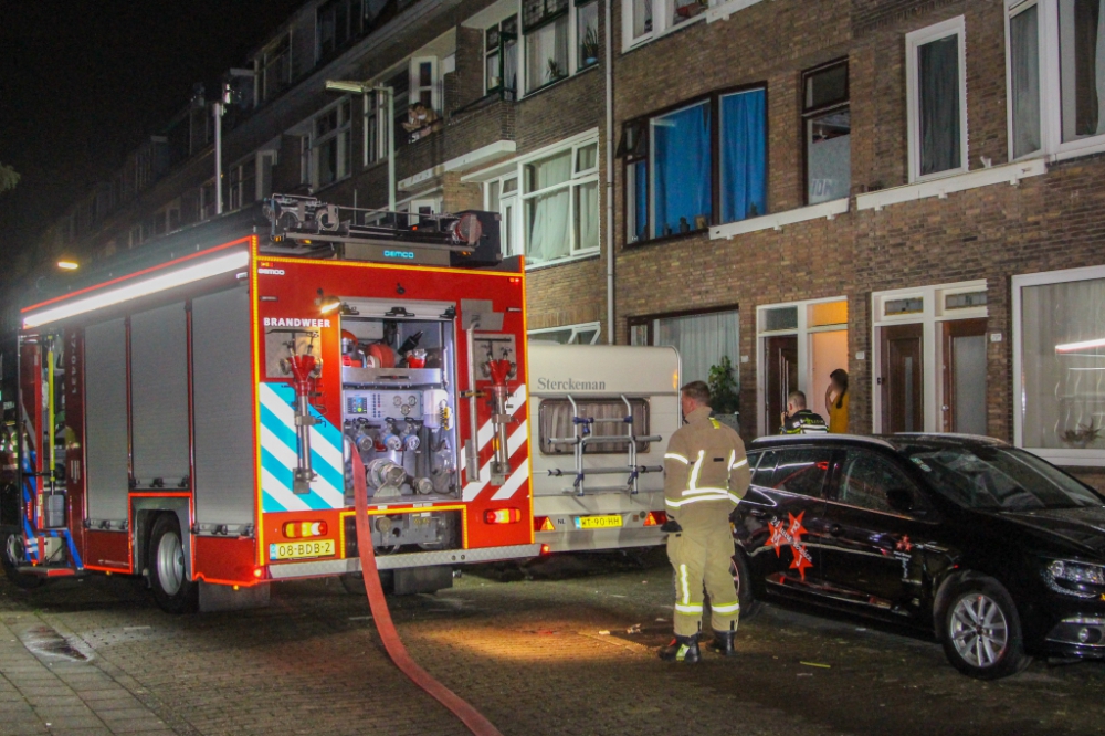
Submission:
<svg viewBox="0 0 1105 736">
<path fill-rule="evenodd" d="M 711 625 L 736 631 L 740 616 L 730 565 L 733 532 L 724 515 L 667 535 L 667 559 L 675 568 L 675 633 L 691 637 L 702 623 L 703 585 L 709 593 Z"/>
</svg>

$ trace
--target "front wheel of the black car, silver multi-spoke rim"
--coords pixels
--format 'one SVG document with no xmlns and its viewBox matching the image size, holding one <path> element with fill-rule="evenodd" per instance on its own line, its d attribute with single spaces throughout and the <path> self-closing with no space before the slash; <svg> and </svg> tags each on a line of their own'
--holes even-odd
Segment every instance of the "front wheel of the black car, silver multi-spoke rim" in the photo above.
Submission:
<svg viewBox="0 0 1105 736">
<path fill-rule="evenodd" d="M 1024 653 L 1021 619 L 1004 586 L 971 574 L 949 585 L 937 616 L 948 662 L 978 680 L 999 680 L 1023 671 L 1032 658 Z"/>
</svg>

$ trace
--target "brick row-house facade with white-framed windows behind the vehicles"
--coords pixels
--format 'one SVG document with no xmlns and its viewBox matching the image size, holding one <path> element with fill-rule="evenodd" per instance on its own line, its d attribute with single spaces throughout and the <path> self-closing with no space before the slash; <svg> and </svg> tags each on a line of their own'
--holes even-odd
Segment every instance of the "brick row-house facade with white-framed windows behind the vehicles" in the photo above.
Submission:
<svg viewBox="0 0 1105 736">
<path fill-rule="evenodd" d="M 307 3 L 250 60 L 224 162 L 274 161 L 259 194 L 382 206 L 368 103 L 319 128 L 346 104 L 323 85 L 406 76 L 413 98 L 429 60 L 441 120 L 396 155 L 400 206 L 502 211 L 534 329 L 608 338 L 611 191 L 615 340 L 677 345 L 686 378 L 729 357 L 746 437 L 775 429 L 790 388 L 823 407 L 846 368 L 853 432 L 987 433 L 1101 480 L 1102 0 L 613 0 L 609 190 L 601 2 L 388 6 L 326 55 L 335 4 Z M 324 183 L 334 126 L 348 166 Z M 210 146 L 188 140 L 77 240 L 127 246 L 187 192 L 202 217 Z"/>
</svg>

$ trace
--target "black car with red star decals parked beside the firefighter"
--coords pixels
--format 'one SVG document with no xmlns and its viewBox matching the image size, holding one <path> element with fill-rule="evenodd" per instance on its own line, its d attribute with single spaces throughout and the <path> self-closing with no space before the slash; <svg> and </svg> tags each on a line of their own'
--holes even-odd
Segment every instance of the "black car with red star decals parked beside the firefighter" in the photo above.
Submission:
<svg viewBox="0 0 1105 736">
<path fill-rule="evenodd" d="M 782 596 L 935 629 L 961 672 L 1105 656 L 1105 498 L 997 440 L 764 438 L 733 514 L 741 609 Z"/>
</svg>

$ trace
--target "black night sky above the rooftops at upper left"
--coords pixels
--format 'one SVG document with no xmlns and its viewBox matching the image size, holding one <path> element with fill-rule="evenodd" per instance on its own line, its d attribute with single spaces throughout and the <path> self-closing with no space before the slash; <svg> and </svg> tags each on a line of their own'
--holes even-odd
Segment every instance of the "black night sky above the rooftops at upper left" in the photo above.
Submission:
<svg viewBox="0 0 1105 736">
<path fill-rule="evenodd" d="M 0 255 L 27 248 L 304 0 L 0 0 Z M 0 266 L 2 267 L 2 266 Z"/>
</svg>

